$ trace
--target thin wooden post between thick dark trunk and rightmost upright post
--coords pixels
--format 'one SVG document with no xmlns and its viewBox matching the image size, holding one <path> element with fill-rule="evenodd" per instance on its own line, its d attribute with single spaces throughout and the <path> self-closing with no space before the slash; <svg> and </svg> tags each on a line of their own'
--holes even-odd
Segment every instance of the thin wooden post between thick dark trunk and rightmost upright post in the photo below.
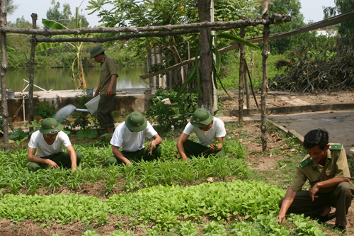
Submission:
<svg viewBox="0 0 354 236">
<path fill-rule="evenodd" d="M 240 38 L 244 39 L 244 27 L 240 28 Z M 244 44 L 240 47 L 240 68 L 239 68 L 239 124 L 244 123 L 244 62 L 246 58 L 246 46 Z"/>
</svg>

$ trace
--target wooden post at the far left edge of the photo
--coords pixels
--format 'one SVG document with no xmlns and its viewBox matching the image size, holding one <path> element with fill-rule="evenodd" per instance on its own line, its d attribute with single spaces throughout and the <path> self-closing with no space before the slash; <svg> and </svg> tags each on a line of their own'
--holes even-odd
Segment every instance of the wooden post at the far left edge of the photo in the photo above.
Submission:
<svg viewBox="0 0 354 236">
<path fill-rule="evenodd" d="M 2 125 L 4 127 L 4 150 L 8 151 L 8 109 L 7 109 L 7 91 L 6 91 L 6 71 L 7 71 L 7 51 L 6 51 L 6 33 L 2 28 L 7 25 L 7 1 L 1 1 L 0 8 L 0 41 L 1 41 L 1 111 Z"/>
</svg>

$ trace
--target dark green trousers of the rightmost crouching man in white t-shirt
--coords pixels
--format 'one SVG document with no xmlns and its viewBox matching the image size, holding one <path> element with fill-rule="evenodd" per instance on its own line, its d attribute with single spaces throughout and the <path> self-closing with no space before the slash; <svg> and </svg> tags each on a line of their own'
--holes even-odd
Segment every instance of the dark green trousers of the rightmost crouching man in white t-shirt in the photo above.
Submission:
<svg viewBox="0 0 354 236">
<path fill-rule="evenodd" d="M 201 154 L 203 157 L 208 157 L 210 155 L 224 157 L 224 148 L 218 152 L 212 152 L 209 147 L 205 147 L 198 142 L 193 142 L 192 140 L 187 140 L 183 143 L 184 152 L 187 157 L 195 156 L 199 157 Z"/>
</svg>

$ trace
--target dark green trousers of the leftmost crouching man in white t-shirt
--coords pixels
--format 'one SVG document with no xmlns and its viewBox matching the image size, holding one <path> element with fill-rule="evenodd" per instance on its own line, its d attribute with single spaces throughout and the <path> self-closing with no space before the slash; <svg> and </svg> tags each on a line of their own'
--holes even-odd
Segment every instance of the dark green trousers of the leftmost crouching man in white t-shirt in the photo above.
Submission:
<svg viewBox="0 0 354 236">
<path fill-rule="evenodd" d="M 79 166 L 81 162 L 82 154 L 81 152 L 76 152 L 76 166 Z M 72 160 L 70 159 L 70 155 L 68 152 L 59 152 L 56 154 L 51 154 L 48 157 L 41 157 L 42 159 L 50 159 L 53 162 L 57 163 L 59 167 L 64 167 L 67 169 L 72 169 Z M 38 169 L 45 169 L 47 168 L 47 164 L 37 163 L 37 162 L 30 162 L 28 165 L 28 170 L 30 172 L 36 171 Z"/>
</svg>

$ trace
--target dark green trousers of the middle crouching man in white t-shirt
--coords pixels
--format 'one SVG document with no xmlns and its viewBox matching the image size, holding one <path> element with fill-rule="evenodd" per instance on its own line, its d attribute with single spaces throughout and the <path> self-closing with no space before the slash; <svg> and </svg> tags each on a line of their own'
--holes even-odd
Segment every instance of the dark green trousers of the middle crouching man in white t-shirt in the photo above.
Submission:
<svg viewBox="0 0 354 236">
<path fill-rule="evenodd" d="M 122 154 L 125 158 L 129 159 L 130 162 L 140 162 L 142 159 L 149 162 L 161 157 L 161 146 L 156 145 L 156 148 L 152 150 L 152 153 L 149 153 L 149 151 L 146 150 L 146 147 L 144 147 L 142 150 L 135 152 L 122 151 Z M 123 164 L 123 162 L 117 159 L 117 157 L 113 156 L 108 158 L 105 162 L 106 166 L 110 164 Z"/>
</svg>

